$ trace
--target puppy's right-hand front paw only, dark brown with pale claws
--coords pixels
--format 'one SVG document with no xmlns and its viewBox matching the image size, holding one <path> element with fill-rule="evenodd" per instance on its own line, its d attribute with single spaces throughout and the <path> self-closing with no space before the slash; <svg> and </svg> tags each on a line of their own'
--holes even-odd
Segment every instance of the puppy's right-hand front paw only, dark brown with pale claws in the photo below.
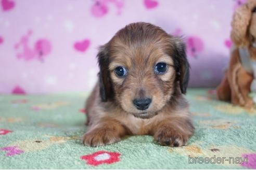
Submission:
<svg viewBox="0 0 256 170">
<path fill-rule="evenodd" d="M 163 146 L 180 147 L 187 145 L 188 137 L 188 135 L 165 127 L 157 131 L 154 135 L 154 140 Z"/>
</svg>

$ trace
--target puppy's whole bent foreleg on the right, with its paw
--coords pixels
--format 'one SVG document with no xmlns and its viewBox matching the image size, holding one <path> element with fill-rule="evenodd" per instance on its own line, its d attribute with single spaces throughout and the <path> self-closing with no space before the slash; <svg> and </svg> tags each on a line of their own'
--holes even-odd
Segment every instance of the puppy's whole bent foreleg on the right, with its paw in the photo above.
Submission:
<svg viewBox="0 0 256 170">
<path fill-rule="evenodd" d="M 171 118 L 161 121 L 155 129 L 154 140 L 164 146 L 184 146 L 188 138 L 194 134 L 195 128 L 191 120 Z"/>
</svg>

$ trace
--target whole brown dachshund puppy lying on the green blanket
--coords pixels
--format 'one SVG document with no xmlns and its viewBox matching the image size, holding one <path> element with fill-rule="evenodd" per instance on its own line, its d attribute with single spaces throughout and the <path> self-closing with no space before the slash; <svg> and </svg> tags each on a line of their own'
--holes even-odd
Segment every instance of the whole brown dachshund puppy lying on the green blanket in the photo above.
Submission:
<svg viewBox="0 0 256 170">
<path fill-rule="evenodd" d="M 97 58 L 99 81 L 86 102 L 84 145 L 113 144 L 124 135 L 186 145 L 194 126 L 183 97 L 189 64 L 180 38 L 150 23 L 132 23 L 102 46 Z"/>
</svg>

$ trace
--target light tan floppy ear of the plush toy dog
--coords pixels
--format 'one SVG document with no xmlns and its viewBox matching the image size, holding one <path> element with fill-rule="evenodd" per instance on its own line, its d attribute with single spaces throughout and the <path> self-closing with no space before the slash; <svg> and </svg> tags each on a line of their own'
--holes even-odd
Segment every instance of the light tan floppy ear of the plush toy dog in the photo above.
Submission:
<svg viewBox="0 0 256 170">
<path fill-rule="evenodd" d="M 248 4 L 241 5 L 236 9 L 231 23 L 231 39 L 238 47 L 244 47 L 248 44 L 248 26 L 251 19 L 251 9 Z"/>
</svg>

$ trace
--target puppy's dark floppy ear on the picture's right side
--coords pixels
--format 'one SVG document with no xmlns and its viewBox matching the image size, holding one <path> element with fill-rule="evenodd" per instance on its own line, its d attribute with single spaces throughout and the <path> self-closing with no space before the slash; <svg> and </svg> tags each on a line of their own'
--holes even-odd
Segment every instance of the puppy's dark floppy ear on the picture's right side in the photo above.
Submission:
<svg viewBox="0 0 256 170">
<path fill-rule="evenodd" d="M 189 81 L 189 63 L 186 55 L 186 46 L 183 40 L 179 37 L 173 37 L 175 42 L 174 47 L 174 65 L 176 67 L 177 80 L 180 82 L 181 92 L 187 91 Z"/>
</svg>

